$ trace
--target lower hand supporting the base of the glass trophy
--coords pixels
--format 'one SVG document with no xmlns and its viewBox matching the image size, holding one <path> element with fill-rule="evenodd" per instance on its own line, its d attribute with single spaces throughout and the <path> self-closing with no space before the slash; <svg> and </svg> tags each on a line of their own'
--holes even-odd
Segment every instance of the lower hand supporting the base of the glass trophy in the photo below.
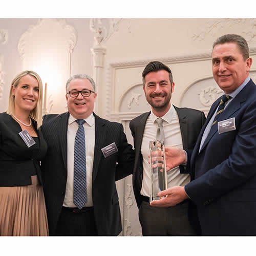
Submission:
<svg viewBox="0 0 256 256">
<path fill-rule="evenodd" d="M 157 207 L 169 207 L 175 206 L 176 204 L 188 199 L 188 196 L 185 192 L 184 187 L 182 186 L 175 186 L 165 189 L 158 193 L 159 197 L 164 197 L 160 200 L 153 201 L 150 205 L 157 206 Z"/>
</svg>

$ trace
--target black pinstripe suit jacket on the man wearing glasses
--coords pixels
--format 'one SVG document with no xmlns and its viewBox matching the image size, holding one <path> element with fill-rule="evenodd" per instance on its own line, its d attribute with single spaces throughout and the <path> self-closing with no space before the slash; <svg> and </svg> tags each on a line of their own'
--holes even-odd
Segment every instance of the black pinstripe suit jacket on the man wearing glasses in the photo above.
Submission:
<svg viewBox="0 0 256 256">
<path fill-rule="evenodd" d="M 92 198 L 99 236 L 122 230 L 115 181 L 132 174 L 134 151 L 120 123 L 95 116 Z M 41 163 L 50 235 L 56 230 L 67 183 L 67 129 L 69 113 L 46 115 L 41 130 L 48 153 Z M 101 148 L 115 142 L 118 152 L 104 158 Z M 118 164 L 116 164 L 118 162 Z"/>
</svg>

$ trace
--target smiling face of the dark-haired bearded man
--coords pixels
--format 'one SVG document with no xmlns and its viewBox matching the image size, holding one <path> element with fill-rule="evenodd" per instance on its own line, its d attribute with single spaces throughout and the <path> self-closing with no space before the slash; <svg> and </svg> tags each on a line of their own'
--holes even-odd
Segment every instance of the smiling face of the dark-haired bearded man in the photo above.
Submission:
<svg viewBox="0 0 256 256">
<path fill-rule="evenodd" d="M 152 106 L 152 112 L 162 117 L 170 108 L 170 98 L 174 91 L 174 82 L 170 84 L 169 73 L 165 70 L 150 72 L 145 76 L 143 87 L 146 100 Z"/>
</svg>

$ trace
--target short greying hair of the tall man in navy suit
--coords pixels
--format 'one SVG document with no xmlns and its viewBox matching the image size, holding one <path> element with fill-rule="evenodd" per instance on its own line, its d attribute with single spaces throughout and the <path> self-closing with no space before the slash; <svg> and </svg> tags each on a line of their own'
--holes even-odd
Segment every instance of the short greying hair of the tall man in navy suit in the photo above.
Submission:
<svg viewBox="0 0 256 256">
<path fill-rule="evenodd" d="M 226 35 L 220 36 L 214 42 L 212 49 L 214 49 L 216 45 L 223 45 L 226 42 L 236 42 L 241 54 L 243 55 L 244 60 L 249 58 L 249 47 L 248 47 L 247 41 L 241 35 L 226 34 Z"/>
</svg>

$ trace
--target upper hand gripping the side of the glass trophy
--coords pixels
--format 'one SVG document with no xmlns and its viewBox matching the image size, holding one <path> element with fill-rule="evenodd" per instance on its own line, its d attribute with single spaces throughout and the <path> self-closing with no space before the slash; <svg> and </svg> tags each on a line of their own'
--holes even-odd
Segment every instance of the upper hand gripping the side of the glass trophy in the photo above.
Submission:
<svg viewBox="0 0 256 256">
<path fill-rule="evenodd" d="M 180 164 L 185 164 L 187 162 L 186 153 L 184 150 L 174 146 L 165 147 L 165 160 L 166 160 L 166 170 L 179 166 Z"/>
</svg>

